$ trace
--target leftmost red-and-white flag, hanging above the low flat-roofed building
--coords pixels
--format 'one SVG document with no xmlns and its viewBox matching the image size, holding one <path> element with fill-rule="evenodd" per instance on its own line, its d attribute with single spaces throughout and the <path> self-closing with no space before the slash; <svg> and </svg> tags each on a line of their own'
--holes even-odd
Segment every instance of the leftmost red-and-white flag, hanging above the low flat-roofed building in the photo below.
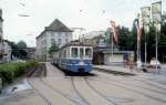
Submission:
<svg viewBox="0 0 166 105">
<path fill-rule="evenodd" d="M 113 31 L 113 41 L 114 43 L 117 43 L 117 30 L 116 30 L 116 23 L 115 21 L 111 20 L 112 31 Z"/>
</svg>

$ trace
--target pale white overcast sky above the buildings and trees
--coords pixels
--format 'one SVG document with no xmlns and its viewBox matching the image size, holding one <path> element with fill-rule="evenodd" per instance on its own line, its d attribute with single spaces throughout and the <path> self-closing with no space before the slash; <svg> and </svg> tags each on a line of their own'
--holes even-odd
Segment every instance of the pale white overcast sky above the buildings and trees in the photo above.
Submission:
<svg viewBox="0 0 166 105">
<path fill-rule="evenodd" d="M 132 28 L 142 7 L 158 0 L 0 0 L 3 11 L 3 38 L 28 46 L 35 46 L 35 38 L 54 19 L 69 28 L 84 28 L 85 32 L 104 31 L 114 20 L 121 27 Z M 166 0 L 163 11 L 166 11 Z M 27 14 L 29 17 L 20 17 Z"/>
</svg>

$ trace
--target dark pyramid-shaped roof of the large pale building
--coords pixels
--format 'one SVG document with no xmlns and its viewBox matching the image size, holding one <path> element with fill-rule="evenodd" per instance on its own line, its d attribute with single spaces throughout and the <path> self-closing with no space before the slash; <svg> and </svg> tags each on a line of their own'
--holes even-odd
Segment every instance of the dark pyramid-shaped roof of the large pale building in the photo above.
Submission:
<svg viewBox="0 0 166 105">
<path fill-rule="evenodd" d="M 49 27 L 45 27 L 48 31 L 72 32 L 70 28 L 63 24 L 59 19 L 55 19 Z"/>
</svg>

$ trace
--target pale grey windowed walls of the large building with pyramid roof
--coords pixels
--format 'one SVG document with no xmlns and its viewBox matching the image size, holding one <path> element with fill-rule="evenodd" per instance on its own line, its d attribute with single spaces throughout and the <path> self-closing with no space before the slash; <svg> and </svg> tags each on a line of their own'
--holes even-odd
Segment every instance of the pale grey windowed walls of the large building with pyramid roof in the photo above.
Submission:
<svg viewBox="0 0 166 105">
<path fill-rule="evenodd" d="M 61 39 L 61 43 L 59 41 Z M 72 32 L 55 32 L 55 31 L 44 31 L 42 35 L 37 39 L 37 59 L 42 61 L 49 61 L 49 49 L 52 45 L 52 41 L 61 48 L 68 42 L 72 41 Z"/>
</svg>

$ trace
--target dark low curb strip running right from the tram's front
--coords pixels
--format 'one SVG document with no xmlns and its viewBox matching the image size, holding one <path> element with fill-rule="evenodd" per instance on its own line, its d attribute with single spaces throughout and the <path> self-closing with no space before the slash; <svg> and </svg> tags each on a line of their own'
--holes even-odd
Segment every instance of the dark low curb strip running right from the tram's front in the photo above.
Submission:
<svg viewBox="0 0 166 105">
<path fill-rule="evenodd" d="M 96 71 L 100 71 L 100 72 L 106 72 L 106 73 L 116 74 L 116 75 L 128 75 L 128 76 L 134 76 L 134 75 L 136 75 L 136 74 L 134 74 L 134 73 L 126 73 L 126 72 L 114 71 L 114 70 L 107 70 L 107 69 L 100 69 L 100 67 L 93 67 L 93 69 L 95 69 Z"/>
</svg>

